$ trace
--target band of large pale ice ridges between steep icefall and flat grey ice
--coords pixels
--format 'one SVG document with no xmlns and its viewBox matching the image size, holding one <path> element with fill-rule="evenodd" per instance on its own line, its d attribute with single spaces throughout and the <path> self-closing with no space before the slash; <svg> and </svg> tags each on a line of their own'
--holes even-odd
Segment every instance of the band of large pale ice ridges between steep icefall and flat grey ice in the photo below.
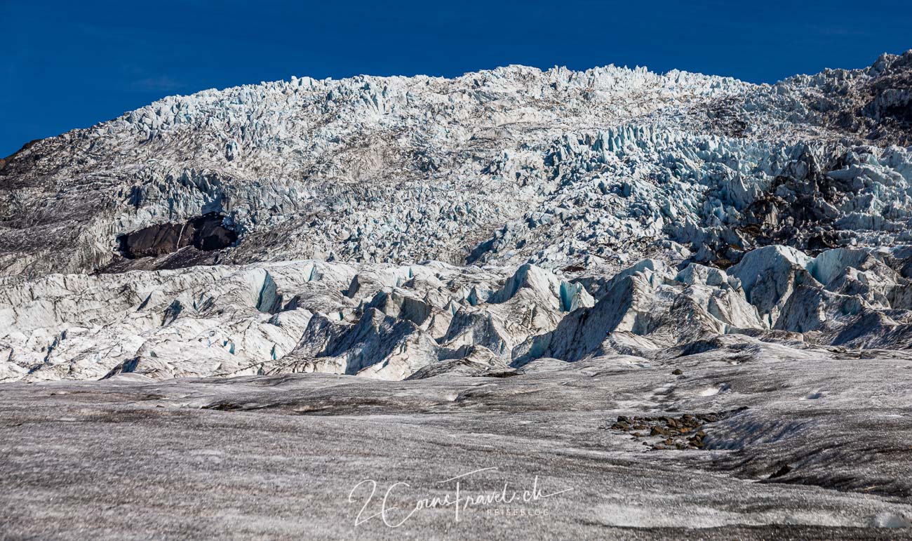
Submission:
<svg viewBox="0 0 912 541">
<path fill-rule="evenodd" d="M 651 358 L 725 335 L 902 348 L 912 335 L 910 265 L 905 247 L 811 257 L 770 246 L 728 271 L 646 259 L 600 281 L 534 265 L 315 260 L 7 279 L 0 378 L 402 380 L 542 358 Z"/>
</svg>

